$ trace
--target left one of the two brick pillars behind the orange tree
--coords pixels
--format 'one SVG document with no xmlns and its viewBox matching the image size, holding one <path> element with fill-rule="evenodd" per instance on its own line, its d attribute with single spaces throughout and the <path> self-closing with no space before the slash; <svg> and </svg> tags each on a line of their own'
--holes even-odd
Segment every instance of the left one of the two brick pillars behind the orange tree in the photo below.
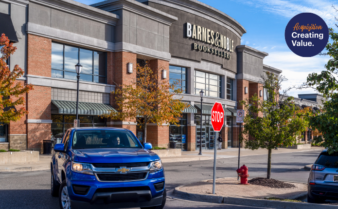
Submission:
<svg viewBox="0 0 338 209">
<path fill-rule="evenodd" d="M 133 63 L 133 73 L 127 72 L 128 63 Z M 107 52 L 107 84 L 128 85 L 136 81 L 136 54 L 130 52 Z M 117 109 L 117 104 L 110 95 L 110 105 Z M 130 118 L 126 121 L 110 121 L 107 119 L 109 127 L 125 128 L 136 135 L 136 120 Z"/>
</svg>

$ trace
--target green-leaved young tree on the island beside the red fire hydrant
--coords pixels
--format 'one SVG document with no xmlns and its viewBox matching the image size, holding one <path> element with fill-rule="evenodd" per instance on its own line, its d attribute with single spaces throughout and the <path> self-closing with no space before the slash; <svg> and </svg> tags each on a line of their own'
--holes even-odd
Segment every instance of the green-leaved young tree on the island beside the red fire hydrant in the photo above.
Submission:
<svg viewBox="0 0 338 209">
<path fill-rule="evenodd" d="M 309 111 L 298 109 L 292 102 L 292 96 L 283 101 L 279 98 L 281 82 L 286 80 L 285 77 L 277 77 L 273 73 L 267 72 L 266 76 L 262 76 L 262 80 L 267 100 L 262 101 L 257 95 L 253 95 L 251 98 L 241 101 L 246 115 L 240 140 L 245 142 L 247 149 L 263 148 L 268 150 L 267 178 L 269 179 L 272 149 L 292 145 L 297 141 L 297 137 L 306 130 L 306 114 Z M 254 139 L 249 140 L 248 135 Z"/>
</svg>

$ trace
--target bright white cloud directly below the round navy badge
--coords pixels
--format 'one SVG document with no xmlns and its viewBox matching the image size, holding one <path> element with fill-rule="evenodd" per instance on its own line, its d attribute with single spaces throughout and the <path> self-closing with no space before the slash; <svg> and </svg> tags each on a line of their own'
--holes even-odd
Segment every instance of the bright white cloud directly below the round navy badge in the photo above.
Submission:
<svg viewBox="0 0 338 209">
<path fill-rule="evenodd" d="M 264 64 L 282 70 L 282 75 L 288 80 L 282 83 L 282 89 L 300 86 L 311 73 L 320 73 L 325 70 L 324 65 L 328 56 L 299 57 L 293 52 L 272 52 L 264 58 Z M 298 97 L 298 94 L 315 93 L 313 89 L 292 89 L 288 95 Z"/>
</svg>

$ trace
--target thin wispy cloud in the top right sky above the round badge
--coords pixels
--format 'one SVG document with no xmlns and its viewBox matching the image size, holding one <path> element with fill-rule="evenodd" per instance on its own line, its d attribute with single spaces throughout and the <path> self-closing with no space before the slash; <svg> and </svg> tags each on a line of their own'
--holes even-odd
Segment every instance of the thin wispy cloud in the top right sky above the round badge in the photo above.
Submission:
<svg viewBox="0 0 338 209">
<path fill-rule="evenodd" d="M 330 0 L 239 0 L 266 12 L 285 17 L 293 18 L 303 12 L 310 12 L 320 16 L 329 27 L 334 27 L 337 21 L 337 12 L 332 5 L 337 5 L 337 1 Z"/>
</svg>

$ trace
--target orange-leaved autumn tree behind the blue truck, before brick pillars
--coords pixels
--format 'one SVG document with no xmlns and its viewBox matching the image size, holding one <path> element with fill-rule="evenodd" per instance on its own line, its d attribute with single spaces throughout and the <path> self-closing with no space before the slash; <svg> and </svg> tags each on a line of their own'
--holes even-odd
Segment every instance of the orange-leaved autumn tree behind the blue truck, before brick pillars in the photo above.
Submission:
<svg viewBox="0 0 338 209">
<path fill-rule="evenodd" d="M 158 71 L 153 72 L 149 63 L 145 62 L 142 67 L 136 66 L 136 80 L 130 84 L 118 85 L 115 92 L 117 112 L 110 111 L 101 116 L 113 120 L 130 120 L 136 118 L 138 125 L 144 130 L 144 140 L 146 142 L 147 124 L 157 123 L 159 125 L 172 123 L 177 126 L 182 111 L 188 104 L 175 98 L 181 94 L 178 81 L 171 83 L 161 80 Z"/>
</svg>

